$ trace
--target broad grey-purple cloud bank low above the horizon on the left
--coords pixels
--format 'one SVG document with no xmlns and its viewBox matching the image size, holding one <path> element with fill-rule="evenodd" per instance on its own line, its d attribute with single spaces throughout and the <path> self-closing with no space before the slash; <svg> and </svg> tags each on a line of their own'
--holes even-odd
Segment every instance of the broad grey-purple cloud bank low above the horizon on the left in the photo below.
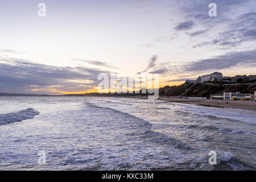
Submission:
<svg viewBox="0 0 256 182">
<path fill-rule="evenodd" d="M 54 67 L 18 59 L 0 60 L 0 92 L 85 92 L 98 85 L 97 76 L 109 73 L 87 67 Z"/>
</svg>

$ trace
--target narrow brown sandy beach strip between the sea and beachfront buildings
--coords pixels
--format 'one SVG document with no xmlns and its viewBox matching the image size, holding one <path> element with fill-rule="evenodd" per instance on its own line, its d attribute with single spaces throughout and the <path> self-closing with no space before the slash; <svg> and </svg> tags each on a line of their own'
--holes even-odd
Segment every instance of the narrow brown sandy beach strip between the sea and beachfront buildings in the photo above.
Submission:
<svg viewBox="0 0 256 182">
<path fill-rule="evenodd" d="M 161 101 L 167 102 L 182 102 L 185 104 L 196 104 L 201 106 L 222 107 L 230 109 L 246 109 L 256 111 L 255 101 L 227 101 L 227 100 L 199 100 L 187 98 L 158 98 Z"/>
</svg>

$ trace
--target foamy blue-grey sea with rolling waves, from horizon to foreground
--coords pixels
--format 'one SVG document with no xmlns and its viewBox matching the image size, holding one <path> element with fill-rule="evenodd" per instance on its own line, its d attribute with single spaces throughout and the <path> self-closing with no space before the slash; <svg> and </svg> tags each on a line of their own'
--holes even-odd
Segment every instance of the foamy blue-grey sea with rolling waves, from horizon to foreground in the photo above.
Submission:
<svg viewBox="0 0 256 182">
<path fill-rule="evenodd" d="M 255 170 L 255 111 L 0 97 L 0 170 Z"/>
</svg>

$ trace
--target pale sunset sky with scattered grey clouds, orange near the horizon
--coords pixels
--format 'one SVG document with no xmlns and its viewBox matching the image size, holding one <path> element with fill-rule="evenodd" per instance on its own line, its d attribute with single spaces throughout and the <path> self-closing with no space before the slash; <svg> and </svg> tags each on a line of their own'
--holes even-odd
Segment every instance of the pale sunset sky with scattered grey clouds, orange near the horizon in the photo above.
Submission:
<svg viewBox="0 0 256 182">
<path fill-rule="evenodd" d="M 1 0 L 0 92 L 96 92 L 110 71 L 157 73 L 159 86 L 256 75 L 255 27 L 255 0 Z"/>
</svg>

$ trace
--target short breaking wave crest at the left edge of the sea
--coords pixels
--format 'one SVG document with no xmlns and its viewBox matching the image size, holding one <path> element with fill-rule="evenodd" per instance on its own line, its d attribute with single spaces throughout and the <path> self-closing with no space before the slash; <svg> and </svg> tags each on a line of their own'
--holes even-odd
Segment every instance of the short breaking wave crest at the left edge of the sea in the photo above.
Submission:
<svg viewBox="0 0 256 182">
<path fill-rule="evenodd" d="M 0 114 L 0 126 L 7 125 L 12 122 L 32 119 L 34 118 L 35 115 L 38 115 L 38 114 L 40 114 L 39 111 L 36 111 L 32 108 L 21 110 L 16 113 Z"/>
</svg>

